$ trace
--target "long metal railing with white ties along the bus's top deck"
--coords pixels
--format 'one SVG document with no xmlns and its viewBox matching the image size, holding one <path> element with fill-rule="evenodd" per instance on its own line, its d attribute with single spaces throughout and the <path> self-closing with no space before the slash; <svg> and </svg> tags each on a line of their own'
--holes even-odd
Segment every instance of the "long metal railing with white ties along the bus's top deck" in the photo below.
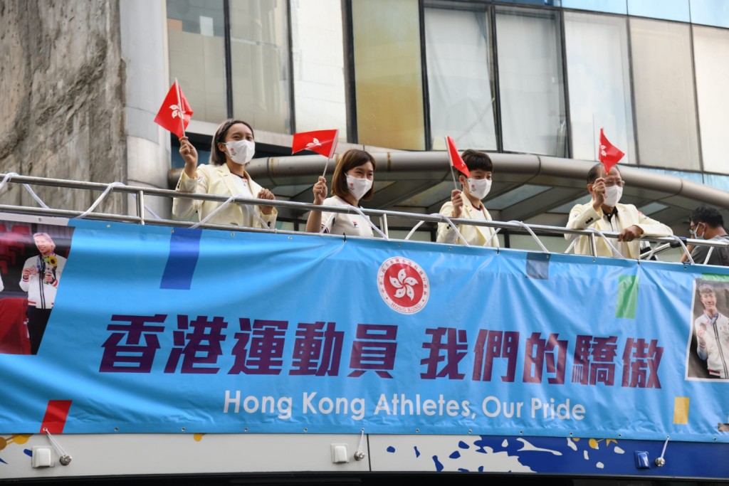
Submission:
<svg viewBox="0 0 729 486">
<path fill-rule="evenodd" d="M 473 221 L 471 219 L 461 218 L 448 218 L 440 213 L 432 214 L 419 214 L 419 213 L 407 213 L 402 211 L 387 211 L 378 209 L 360 209 L 353 207 L 343 206 L 330 206 L 330 205 L 314 205 L 313 203 L 298 203 L 294 201 L 286 200 L 260 200 L 252 197 L 230 197 L 225 195 L 214 195 L 214 194 L 198 194 L 198 193 L 185 193 L 177 192 L 171 189 L 155 189 L 149 187 L 136 187 L 128 186 L 120 182 L 112 182 L 110 184 L 103 184 L 98 182 L 86 182 L 86 181 L 70 181 L 66 179 L 50 179 L 43 177 L 31 177 L 31 176 L 20 176 L 17 173 L 0 173 L 0 201 L 2 193 L 7 190 L 8 184 L 21 184 L 31 195 L 31 197 L 39 203 L 39 207 L 31 207 L 26 205 L 8 205 L 0 203 L 0 211 L 10 213 L 21 213 L 31 214 L 36 216 L 55 216 L 69 219 L 95 219 L 109 222 L 124 222 L 133 224 L 155 224 L 159 226 L 168 227 L 201 227 L 212 230 L 233 230 L 233 231 L 246 231 L 246 232 L 276 232 L 283 234 L 300 234 L 301 232 L 292 230 L 280 230 L 276 228 L 252 228 L 252 227 L 239 227 L 230 224 L 211 224 L 206 222 L 191 222 L 180 219 L 166 219 L 158 216 L 154 211 L 150 210 L 145 205 L 145 197 L 167 197 L 167 198 L 189 198 L 197 200 L 209 200 L 218 201 L 223 204 L 249 204 L 249 205 L 272 205 L 276 208 L 291 208 L 297 211 L 327 211 L 332 213 L 352 213 L 356 211 L 364 216 L 375 217 L 380 222 L 380 227 L 376 226 L 370 221 L 373 226 L 373 230 L 385 240 L 391 240 L 389 236 L 388 219 L 399 219 L 413 223 L 413 228 L 410 230 L 408 235 L 402 240 L 410 240 L 412 235 L 418 230 L 418 227 L 425 223 L 445 223 L 451 225 L 459 240 L 464 243 L 464 246 L 468 246 L 468 243 L 462 240 L 460 233 L 458 232 L 459 224 L 468 224 L 472 226 L 483 226 L 494 228 L 495 234 L 498 234 L 502 230 L 512 230 L 516 232 L 526 232 L 531 235 L 532 238 L 537 242 L 539 248 L 545 253 L 551 253 L 547 250 L 546 246 L 539 240 L 539 235 L 574 235 L 575 237 L 585 235 L 589 238 L 590 249 L 592 256 L 597 256 L 596 241 L 597 238 L 603 238 L 609 248 L 614 250 L 615 254 L 620 254 L 617 248 L 612 243 L 612 240 L 617 240 L 617 232 L 600 232 L 594 229 L 587 230 L 572 230 L 566 227 L 547 226 L 540 224 L 525 224 L 518 221 L 500 222 L 500 221 Z M 31 186 L 50 186 L 55 188 L 66 188 L 66 189 L 82 189 L 87 191 L 101 192 L 101 195 L 96 198 L 93 204 L 90 205 L 85 211 L 77 211 L 71 209 L 61 208 L 50 208 L 43 200 L 41 200 Z M 98 207 L 104 201 L 104 199 L 110 193 L 120 193 L 124 195 L 131 195 L 136 199 L 135 213 L 136 214 L 119 214 L 119 213 L 101 213 L 95 212 L 95 208 Z M 149 216 L 148 216 L 149 214 Z M 329 235 L 325 236 L 332 238 L 342 238 L 342 235 Z M 364 237 L 346 237 L 346 238 L 364 238 Z M 641 259 L 652 259 L 656 255 L 666 251 L 670 248 L 682 248 L 682 252 L 687 255 L 687 261 L 691 264 L 695 263 L 690 255 L 690 251 L 687 249 L 687 245 L 693 246 L 711 246 L 711 247 L 729 247 L 729 242 L 716 241 L 716 240 L 695 240 L 689 238 L 682 238 L 678 236 L 668 236 L 661 238 L 643 237 L 639 240 L 649 241 L 650 243 L 657 243 L 657 246 L 652 247 L 650 251 L 641 255 Z M 577 238 L 572 240 L 572 244 L 564 251 L 569 253 L 572 251 L 572 246 Z M 444 243 L 445 244 L 445 243 Z M 698 262 L 703 263 L 703 262 Z"/>
</svg>

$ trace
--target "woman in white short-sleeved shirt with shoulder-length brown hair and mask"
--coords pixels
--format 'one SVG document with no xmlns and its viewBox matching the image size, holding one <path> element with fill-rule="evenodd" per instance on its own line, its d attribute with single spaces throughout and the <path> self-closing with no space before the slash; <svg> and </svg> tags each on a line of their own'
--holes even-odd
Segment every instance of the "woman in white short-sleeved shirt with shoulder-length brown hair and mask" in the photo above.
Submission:
<svg viewBox="0 0 729 486">
<path fill-rule="evenodd" d="M 375 195 L 375 157 L 369 152 L 351 149 L 337 163 L 332 176 L 332 197 L 327 197 L 327 179 L 319 176 L 314 184 L 314 204 L 332 206 L 359 206 L 359 201 L 370 200 Z M 370 218 L 356 211 L 332 213 L 311 211 L 306 220 L 306 231 L 326 232 L 332 235 L 373 236 Z"/>
</svg>

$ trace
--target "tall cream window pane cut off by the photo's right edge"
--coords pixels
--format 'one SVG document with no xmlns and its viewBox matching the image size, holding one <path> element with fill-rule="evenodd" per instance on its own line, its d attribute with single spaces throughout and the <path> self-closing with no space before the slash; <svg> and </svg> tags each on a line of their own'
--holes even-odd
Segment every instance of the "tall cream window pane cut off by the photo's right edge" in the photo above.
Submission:
<svg viewBox="0 0 729 486">
<path fill-rule="evenodd" d="M 729 173 L 729 165 L 726 163 L 726 136 L 729 127 L 729 31 L 695 26 L 693 55 L 703 170 Z"/>
</svg>

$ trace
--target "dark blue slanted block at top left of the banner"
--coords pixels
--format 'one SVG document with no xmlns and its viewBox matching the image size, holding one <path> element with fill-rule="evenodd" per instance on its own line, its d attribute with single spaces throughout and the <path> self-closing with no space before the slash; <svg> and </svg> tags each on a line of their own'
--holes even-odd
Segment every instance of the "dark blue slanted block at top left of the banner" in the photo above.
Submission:
<svg viewBox="0 0 729 486">
<path fill-rule="evenodd" d="M 190 290 L 192 274 L 200 256 L 200 236 L 197 228 L 175 228 L 170 238 L 170 254 L 160 289 Z"/>
</svg>

